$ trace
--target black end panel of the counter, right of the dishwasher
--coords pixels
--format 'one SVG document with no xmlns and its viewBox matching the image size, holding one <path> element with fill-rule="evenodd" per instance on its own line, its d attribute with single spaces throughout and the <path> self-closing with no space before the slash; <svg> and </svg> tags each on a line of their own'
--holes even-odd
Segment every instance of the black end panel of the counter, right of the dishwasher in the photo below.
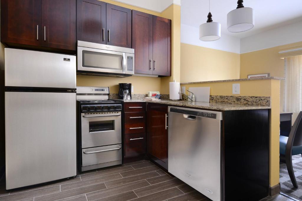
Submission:
<svg viewBox="0 0 302 201">
<path fill-rule="evenodd" d="M 225 200 L 268 196 L 269 110 L 225 111 L 223 119 Z"/>
</svg>

